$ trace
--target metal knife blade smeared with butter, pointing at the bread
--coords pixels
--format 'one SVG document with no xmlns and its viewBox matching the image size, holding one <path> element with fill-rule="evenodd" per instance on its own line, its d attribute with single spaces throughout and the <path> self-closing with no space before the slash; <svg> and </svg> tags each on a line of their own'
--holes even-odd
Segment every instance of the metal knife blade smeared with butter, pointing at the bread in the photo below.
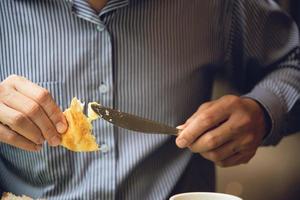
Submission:
<svg viewBox="0 0 300 200">
<path fill-rule="evenodd" d="M 169 135 L 178 135 L 179 129 L 161 124 L 149 119 L 145 119 L 133 114 L 121 112 L 119 110 L 104 107 L 98 104 L 91 105 L 92 110 L 97 113 L 100 118 L 114 124 L 115 126 L 138 131 L 143 133 L 160 133 Z"/>
</svg>

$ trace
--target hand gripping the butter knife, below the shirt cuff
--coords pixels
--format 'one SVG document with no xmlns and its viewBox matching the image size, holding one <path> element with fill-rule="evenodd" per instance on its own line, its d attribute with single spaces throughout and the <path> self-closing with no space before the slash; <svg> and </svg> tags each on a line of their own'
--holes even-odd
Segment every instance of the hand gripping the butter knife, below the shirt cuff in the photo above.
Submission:
<svg viewBox="0 0 300 200">
<path fill-rule="evenodd" d="M 263 108 L 233 95 L 202 104 L 181 126 L 176 144 L 221 167 L 247 163 L 266 134 Z"/>
</svg>

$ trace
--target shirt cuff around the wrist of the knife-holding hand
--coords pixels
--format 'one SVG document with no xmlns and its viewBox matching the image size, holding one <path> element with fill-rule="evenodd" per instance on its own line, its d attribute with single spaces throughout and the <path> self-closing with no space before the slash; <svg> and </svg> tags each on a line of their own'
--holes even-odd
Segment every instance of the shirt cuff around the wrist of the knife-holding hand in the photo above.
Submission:
<svg viewBox="0 0 300 200">
<path fill-rule="evenodd" d="M 284 104 L 280 98 L 267 88 L 255 87 L 250 93 L 243 97 L 251 98 L 265 109 L 271 120 L 270 131 L 266 134 L 261 145 L 276 145 L 281 140 L 281 126 L 285 115 Z"/>
</svg>

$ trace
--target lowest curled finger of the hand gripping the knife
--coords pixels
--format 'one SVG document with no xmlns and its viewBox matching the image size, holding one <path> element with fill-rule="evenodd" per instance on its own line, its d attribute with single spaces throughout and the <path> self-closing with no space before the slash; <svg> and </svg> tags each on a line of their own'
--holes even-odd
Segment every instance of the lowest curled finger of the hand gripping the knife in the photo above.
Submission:
<svg viewBox="0 0 300 200">
<path fill-rule="evenodd" d="M 220 162 L 215 162 L 215 163 L 220 167 L 231 167 L 235 165 L 248 163 L 254 155 L 255 155 L 255 151 L 239 152 L 225 160 L 222 160 Z"/>
</svg>

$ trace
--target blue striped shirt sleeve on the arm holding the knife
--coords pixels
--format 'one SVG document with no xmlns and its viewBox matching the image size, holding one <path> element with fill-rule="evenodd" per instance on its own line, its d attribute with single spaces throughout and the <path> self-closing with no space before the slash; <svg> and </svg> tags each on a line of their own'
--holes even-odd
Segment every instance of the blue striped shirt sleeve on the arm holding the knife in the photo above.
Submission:
<svg viewBox="0 0 300 200">
<path fill-rule="evenodd" d="M 297 25 L 271 0 L 233 1 L 231 8 L 226 72 L 244 96 L 263 106 L 271 128 L 262 145 L 275 145 L 300 130 Z"/>
</svg>

